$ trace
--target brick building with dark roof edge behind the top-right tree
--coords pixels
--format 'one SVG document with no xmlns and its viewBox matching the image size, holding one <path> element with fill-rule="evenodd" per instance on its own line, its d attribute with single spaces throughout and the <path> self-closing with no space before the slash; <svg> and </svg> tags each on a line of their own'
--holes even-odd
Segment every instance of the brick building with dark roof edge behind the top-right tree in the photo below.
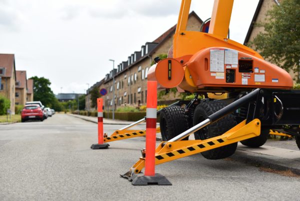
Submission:
<svg viewBox="0 0 300 201">
<path fill-rule="evenodd" d="M 264 32 L 263 27 L 255 26 L 256 23 L 265 22 L 266 14 L 269 10 L 273 8 L 273 6 L 279 6 L 279 2 L 277 0 L 259 0 L 254 16 L 252 18 L 251 24 L 249 26 L 247 35 L 244 40 L 244 45 L 247 45 L 249 42 L 253 41 L 253 39 L 260 33 Z M 254 49 L 253 47 L 251 47 Z M 267 61 L 267 58 L 265 58 Z M 293 71 L 289 72 L 290 76 L 294 78 L 294 82 L 296 77 L 299 76 L 299 72 L 294 73 Z"/>
</svg>

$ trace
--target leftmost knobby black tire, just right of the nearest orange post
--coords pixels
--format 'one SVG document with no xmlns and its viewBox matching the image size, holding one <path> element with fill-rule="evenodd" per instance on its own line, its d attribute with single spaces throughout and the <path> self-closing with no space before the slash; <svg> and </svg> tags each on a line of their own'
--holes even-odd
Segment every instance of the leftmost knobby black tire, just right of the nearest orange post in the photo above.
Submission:
<svg viewBox="0 0 300 201">
<path fill-rule="evenodd" d="M 163 141 L 168 141 L 188 129 L 187 116 L 180 106 L 165 107 L 159 115 L 160 133 Z M 183 140 L 188 140 L 188 136 Z"/>
</svg>

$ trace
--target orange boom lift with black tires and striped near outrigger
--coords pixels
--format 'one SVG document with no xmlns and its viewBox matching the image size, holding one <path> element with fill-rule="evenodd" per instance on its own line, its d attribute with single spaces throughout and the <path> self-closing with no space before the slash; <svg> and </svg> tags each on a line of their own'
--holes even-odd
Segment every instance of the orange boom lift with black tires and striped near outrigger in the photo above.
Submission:
<svg viewBox="0 0 300 201">
<path fill-rule="evenodd" d="M 233 0 L 215 0 L 208 33 L 187 31 L 191 0 L 182 0 L 173 45 L 148 71 L 158 88 L 176 87 L 194 93 L 186 104 L 160 111 L 161 142 L 155 164 L 201 153 L 221 159 L 235 152 L 237 142 L 250 147 L 265 143 L 269 130 L 295 136 L 300 148 L 300 91 L 292 78 L 264 61 L 254 50 L 227 38 Z M 226 99 L 207 93 L 227 93 Z M 198 99 L 199 95 L 205 99 Z M 195 140 L 187 140 L 190 134 Z M 144 157 L 122 175 L 130 178 L 144 167 Z"/>
</svg>

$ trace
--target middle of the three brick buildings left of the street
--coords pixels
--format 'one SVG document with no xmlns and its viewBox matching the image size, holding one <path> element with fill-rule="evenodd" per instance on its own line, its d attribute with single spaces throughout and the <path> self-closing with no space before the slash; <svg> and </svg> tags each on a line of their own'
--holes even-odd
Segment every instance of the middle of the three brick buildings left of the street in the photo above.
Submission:
<svg viewBox="0 0 300 201">
<path fill-rule="evenodd" d="M 15 104 L 25 105 L 27 99 L 26 71 L 15 71 Z"/>
</svg>

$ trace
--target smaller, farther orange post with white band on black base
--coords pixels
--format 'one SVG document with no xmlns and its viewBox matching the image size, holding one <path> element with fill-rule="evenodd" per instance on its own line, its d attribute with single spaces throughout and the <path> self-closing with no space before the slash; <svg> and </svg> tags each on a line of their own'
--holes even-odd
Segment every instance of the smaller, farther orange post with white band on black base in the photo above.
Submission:
<svg viewBox="0 0 300 201">
<path fill-rule="evenodd" d="M 103 99 L 97 98 L 98 108 L 98 143 L 92 144 L 91 149 L 107 149 L 109 144 L 103 143 Z"/>
</svg>

